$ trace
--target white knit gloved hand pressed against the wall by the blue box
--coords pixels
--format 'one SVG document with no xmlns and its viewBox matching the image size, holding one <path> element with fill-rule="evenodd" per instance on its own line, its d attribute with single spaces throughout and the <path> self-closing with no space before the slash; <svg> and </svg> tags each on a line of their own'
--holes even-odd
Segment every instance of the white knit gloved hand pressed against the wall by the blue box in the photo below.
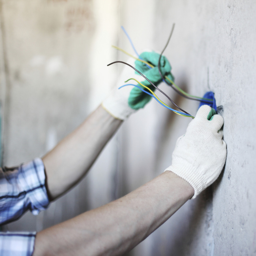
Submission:
<svg viewBox="0 0 256 256">
<path fill-rule="evenodd" d="M 226 160 L 223 138 L 223 117 L 215 115 L 210 106 L 203 105 L 189 123 L 172 154 L 172 171 L 194 188 L 195 198 L 220 175 Z"/>
</svg>

